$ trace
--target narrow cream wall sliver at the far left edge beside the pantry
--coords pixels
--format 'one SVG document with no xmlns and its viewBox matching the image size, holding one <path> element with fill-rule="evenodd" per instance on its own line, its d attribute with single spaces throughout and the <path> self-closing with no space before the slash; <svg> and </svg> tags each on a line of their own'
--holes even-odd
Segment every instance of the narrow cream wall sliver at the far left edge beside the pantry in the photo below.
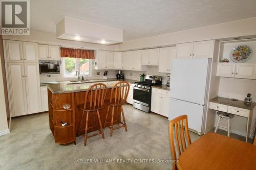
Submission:
<svg viewBox="0 0 256 170">
<path fill-rule="evenodd" d="M 1 108 L 0 109 L 0 135 L 1 135 L 4 133 L 9 133 L 7 115 L 6 115 L 6 105 L 5 105 L 3 72 L 2 72 L 1 64 L 0 64 L 0 108 Z"/>
</svg>

